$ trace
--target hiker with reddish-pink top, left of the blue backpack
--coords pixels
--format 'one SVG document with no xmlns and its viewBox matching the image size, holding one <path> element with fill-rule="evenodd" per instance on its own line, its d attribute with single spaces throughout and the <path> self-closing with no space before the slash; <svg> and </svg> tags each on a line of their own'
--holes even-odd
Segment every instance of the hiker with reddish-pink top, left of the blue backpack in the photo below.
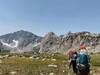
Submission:
<svg viewBox="0 0 100 75">
<path fill-rule="evenodd" d="M 77 69 L 76 69 L 76 59 L 77 59 L 77 51 L 76 49 L 69 49 L 67 52 L 68 56 L 69 56 L 69 69 L 73 68 L 73 72 L 76 73 Z"/>
</svg>

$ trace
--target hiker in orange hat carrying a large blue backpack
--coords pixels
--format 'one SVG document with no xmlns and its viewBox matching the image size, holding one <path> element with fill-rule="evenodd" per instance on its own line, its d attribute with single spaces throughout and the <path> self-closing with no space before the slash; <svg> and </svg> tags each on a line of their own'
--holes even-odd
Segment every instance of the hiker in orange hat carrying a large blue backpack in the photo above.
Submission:
<svg viewBox="0 0 100 75">
<path fill-rule="evenodd" d="M 77 75 L 88 75 L 90 68 L 90 57 L 85 45 L 80 46 L 80 51 L 77 57 Z"/>
</svg>

